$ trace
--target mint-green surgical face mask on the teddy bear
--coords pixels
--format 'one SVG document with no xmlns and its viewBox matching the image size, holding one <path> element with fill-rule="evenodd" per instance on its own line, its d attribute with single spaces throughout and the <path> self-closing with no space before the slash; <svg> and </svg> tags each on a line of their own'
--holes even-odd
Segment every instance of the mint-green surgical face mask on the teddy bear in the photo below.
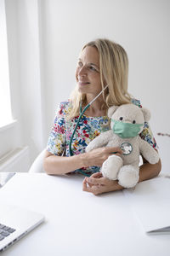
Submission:
<svg viewBox="0 0 170 256">
<path fill-rule="evenodd" d="M 115 119 L 111 119 L 111 121 L 114 122 L 112 128 L 113 132 L 122 138 L 138 136 L 140 129 L 143 126 L 143 124 L 123 123 L 116 121 Z"/>
</svg>

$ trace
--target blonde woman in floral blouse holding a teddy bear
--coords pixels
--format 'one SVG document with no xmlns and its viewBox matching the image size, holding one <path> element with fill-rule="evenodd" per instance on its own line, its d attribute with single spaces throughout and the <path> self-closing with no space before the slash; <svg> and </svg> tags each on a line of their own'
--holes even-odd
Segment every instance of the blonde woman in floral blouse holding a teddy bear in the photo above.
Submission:
<svg viewBox="0 0 170 256">
<path fill-rule="evenodd" d="M 141 108 L 139 101 L 133 100 L 127 93 L 127 73 L 127 53 L 121 45 L 107 39 L 97 39 L 83 47 L 77 62 L 77 87 L 71 101 L 59 104 L 48 139 L 44 158 L 44 169 L 48 174 L 78 172 L 90 176 L 84 178 L 82 189 L 94 195 L 123 189 L 117 181 L 102 177 L 99 172 L 99 166 L 102 166 L 112 152 L 122 154 L 121 148 L 96 148 L 88 153 L 85 148 L 100 132 L 110 129 L 107 109 L 112 105 L 133 102 Z M 83 113 L 69 148 L 80 108 L 85 108 L 101 90 L 103 93 Z M 149 126 L 141 137 L 156 148 Z M 69 157 L 63 157 L 62 154 Z M 160 171 L 161 161 L 150 165 L 144 160 L 140 167 L 139 181 L 156 177 Z"/>
</svg>

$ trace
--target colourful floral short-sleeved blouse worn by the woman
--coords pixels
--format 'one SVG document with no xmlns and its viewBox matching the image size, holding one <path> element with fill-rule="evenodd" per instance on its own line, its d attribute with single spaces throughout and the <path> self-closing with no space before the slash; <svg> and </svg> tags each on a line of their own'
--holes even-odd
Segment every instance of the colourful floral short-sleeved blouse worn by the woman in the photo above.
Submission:
<svg viewBox="0 0 170 256">
<path fill-rule="evenodd" d="M 133 99 L 132 102 L 133 104 L 139 106 L 139 108 L 142 108 L 138 100 Z M 72 119 L 65 119 L 65 115 L 70 111 L 70 101 L 59 103 L 59 107 L 54 119 L 54 125 L 48 137 L 47 150 L 51 154 L 70 156 L 69 143 L 79 118 L 79 116 L 77 116 Z M 72 153 L 84 153 L 88 143 L 90 143 L 95 137 L 99 136 L 101 132 L 105 132 L 110 129 L 110 119 L 107 116 L 89 117 L 86 114 L 83 114 L 72 140 Z M 153 148 L 156 148 L 155 138 L 150 131 L 149 124 L 146 122 L 144 123 L 144 131 L 142 131 L 140 137 L 150 143 Z M 94 172 L 99 172 L 99 168 L 100 167 L 98 166 L 90 166 L 88 168 L 75 170 L 74 172 L 90 176 Z"/>
</svg>

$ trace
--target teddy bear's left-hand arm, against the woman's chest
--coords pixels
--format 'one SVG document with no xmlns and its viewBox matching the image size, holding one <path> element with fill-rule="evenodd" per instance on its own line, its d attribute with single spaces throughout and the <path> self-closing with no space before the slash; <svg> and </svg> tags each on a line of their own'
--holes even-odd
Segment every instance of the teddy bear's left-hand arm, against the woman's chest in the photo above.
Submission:
<svg viewBox="0 0 170 256">
<path fill-rule="evenodd" d="M 94 140 L 88 144 L 86 148 L 86 152 L 89 152 L 94 148 L 104 147 L 110 141 L 112 136 L 113 136 L 112 130 L 102 132 L 98 137 L 95 137 Z"/>
</svg>

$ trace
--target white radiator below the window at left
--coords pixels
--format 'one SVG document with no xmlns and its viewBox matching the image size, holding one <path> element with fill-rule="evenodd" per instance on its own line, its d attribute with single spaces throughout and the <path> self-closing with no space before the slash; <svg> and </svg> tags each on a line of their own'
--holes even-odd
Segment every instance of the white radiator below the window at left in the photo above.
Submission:
<svg viewBox="0 0 170 256">
<path fill-rule="evenodd" d="M 0 159 L 0 172 L 28 172 L 30 165 L 29 148 L 17 148 Z"/>
</svg>

